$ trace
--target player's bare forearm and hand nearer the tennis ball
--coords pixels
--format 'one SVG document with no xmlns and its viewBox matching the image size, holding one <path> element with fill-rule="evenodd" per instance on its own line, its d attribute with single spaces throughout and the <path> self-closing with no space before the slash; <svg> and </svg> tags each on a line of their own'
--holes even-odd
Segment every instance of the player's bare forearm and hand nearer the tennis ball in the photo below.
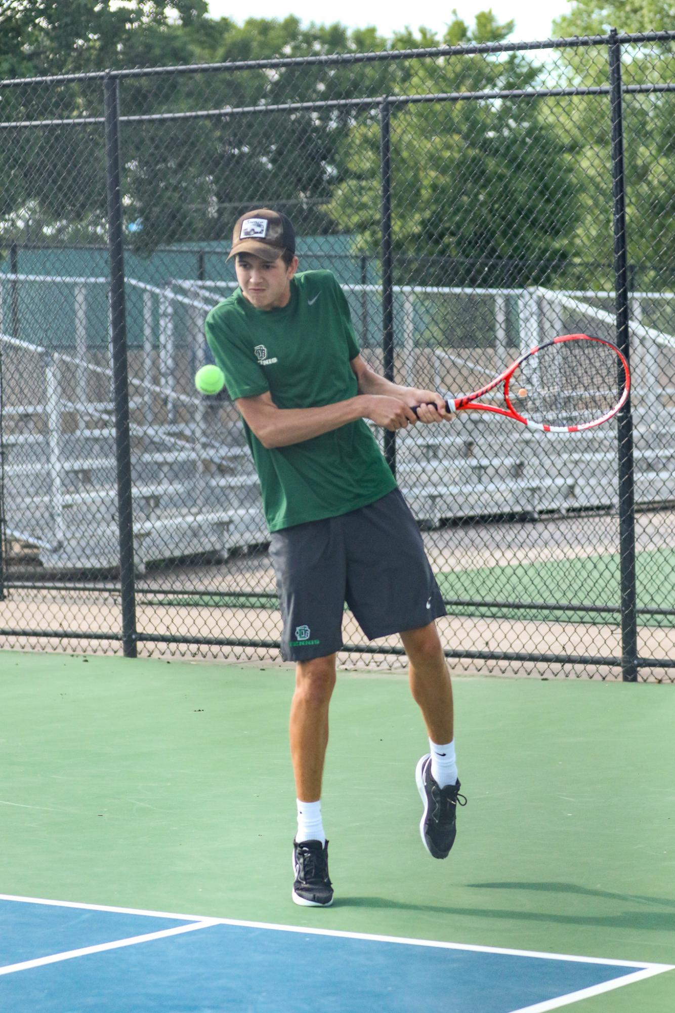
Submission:
<svg viewBox="0 0 675 1013">
<path fill-rule="evenodd" d="M 237 398 L 235 404 L 268 450 L 303 443 L 359 418 L 369 418 L 391 432 L 417 421 L 414 412 L 398 398 L 379 394 L 357 394 L 314 408 L 277 408 L 269 391 L 265 391 L 255 397 Z"/>
</svg>

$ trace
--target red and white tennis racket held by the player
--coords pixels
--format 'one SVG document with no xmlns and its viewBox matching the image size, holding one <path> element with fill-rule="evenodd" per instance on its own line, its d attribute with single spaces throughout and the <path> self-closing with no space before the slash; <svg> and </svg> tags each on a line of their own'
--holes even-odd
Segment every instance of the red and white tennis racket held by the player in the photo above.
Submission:
<svg viewBox="0 0 675 1013">
<path fill-rule="evenodd" d="M 504 385 L 501 404 L 480 404 Z M 610 341 L 566 334 L 536 345 L 473 394 L 445 398 L 448 411 L 492 411 L 545 433 L 579 433 L 601 425 L 625 404 L 628 364 Z"/>
</svg>

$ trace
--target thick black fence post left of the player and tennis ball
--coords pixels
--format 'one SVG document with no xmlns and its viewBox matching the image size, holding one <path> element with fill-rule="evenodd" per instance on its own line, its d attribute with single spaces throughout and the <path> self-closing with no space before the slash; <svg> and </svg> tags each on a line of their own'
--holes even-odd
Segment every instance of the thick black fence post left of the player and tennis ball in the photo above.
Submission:
<svg viewBox="0 0 675 1013">
<path fill-rule="evenodd" d="M 115 461 L 117 472 L 117 527 L 119 531 L 119 583 L 121 633 L 125 657 L 137 656 L 136 587 L 134 572 L 134 511 L 132 451 L 126 363 L 126 312 L 124 305 L 124 249 L 122 240 L 121 169 L 119 158 L 119 96 L 117 79 L 107 75 L 105 96 L 105 161 L 108 198 L 108 250 L 110 260 L 110 321 L 112 389 L 114 398 Z"/>
</svg>

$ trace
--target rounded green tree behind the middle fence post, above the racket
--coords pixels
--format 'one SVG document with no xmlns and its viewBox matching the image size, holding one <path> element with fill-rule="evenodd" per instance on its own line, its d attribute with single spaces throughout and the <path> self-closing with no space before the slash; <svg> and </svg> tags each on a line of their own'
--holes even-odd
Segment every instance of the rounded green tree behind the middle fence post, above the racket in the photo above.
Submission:
<svg viewBox="0 0 675 1013">
<path fill-rule="evenodd" d="M 513 23 L 458 18 L 445 41 L 500 42 Z M 397 37 L 407 47 L 427 40 Z M 518 54 L 410 62 L 396 93 L 528 88 L 538 70 Z M 378 241 L 378 125 L 361 115 L 339 148 L 328 210 L 363 248 Z M 529 100 L 478 99 L 393 106 L 392 199 L 399 281 L 524 285 L 571 252 L 572 170 L 556 131 Z M 404 265 L 403 257 L 408 260 Z M 441 257 L 435 263 L 421 258 Z M 401 270 L 405 277 L 401 277 Z"/>
</svg>

